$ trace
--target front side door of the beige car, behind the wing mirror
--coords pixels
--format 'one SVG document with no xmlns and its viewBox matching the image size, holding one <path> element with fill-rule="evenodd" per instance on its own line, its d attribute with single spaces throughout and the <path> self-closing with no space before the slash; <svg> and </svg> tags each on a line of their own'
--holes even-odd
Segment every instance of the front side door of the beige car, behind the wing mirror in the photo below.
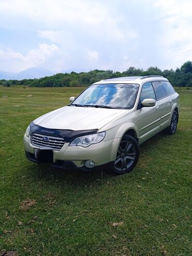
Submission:
<svg viewBox="0 0 192 256">
<path fill-rule="evenodd" d="M 152 137 L 155 133 L 160 130 L 160 113 L 159 113 L 159 102 L 156 101 L 155 106 L 142 106 L 141 102 L 144 99 L 154 99 L 155 92 L 151 83 L 143 85 L 140 95 L 140 103 L 138 106 L 139 115 L 139 142 L 142 143 L 145 140 Z"/>
</svg>

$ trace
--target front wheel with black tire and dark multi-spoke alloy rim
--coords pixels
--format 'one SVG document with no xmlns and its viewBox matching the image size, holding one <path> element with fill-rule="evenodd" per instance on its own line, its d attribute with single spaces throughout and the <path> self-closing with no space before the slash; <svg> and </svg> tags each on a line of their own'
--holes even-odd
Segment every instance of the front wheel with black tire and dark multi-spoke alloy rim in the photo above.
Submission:
<svg viewBox="0 0 192 256">
<path fill-rule="evenodd" d="M 117 150 L 117 156 L 111 172 L 121 175 L 131 171 L 139 160 L 138 142 L 130 135 L 125 134 Z"/>
</svg>

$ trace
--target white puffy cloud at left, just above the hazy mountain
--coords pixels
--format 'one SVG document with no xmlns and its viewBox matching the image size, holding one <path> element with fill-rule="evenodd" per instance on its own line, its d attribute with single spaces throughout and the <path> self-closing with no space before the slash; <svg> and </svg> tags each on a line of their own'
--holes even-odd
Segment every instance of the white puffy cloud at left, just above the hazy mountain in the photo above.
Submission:
<svg viewBox="0 0 192 256">
<path fill-rule="evenodd" d="M 0 70 L 20 72 L 22 70 L 43 65 L 58 47 L 54 44 L 39 44 L 37 49 L 30 50 L 26 55 L 12 49 L 0 50 Z"/>
</svg>

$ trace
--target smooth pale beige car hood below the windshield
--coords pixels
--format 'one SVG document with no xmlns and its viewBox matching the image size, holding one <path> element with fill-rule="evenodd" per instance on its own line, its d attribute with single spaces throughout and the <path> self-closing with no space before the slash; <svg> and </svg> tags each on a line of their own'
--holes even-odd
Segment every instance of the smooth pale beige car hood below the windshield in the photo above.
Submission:
<svg viewBox="0 0 192 256">
<path fill-rule="evenodd" d="M 103 126 L 128 110 L 64 106 L 34 120 L 34 124 L 50 129 L 87 130 Z"/>
</svg>

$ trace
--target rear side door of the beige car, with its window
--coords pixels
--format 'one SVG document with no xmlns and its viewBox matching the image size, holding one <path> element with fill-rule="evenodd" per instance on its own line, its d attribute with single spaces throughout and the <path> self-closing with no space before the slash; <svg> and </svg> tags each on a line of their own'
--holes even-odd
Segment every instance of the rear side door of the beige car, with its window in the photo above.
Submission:
<svg viewBox="0 0 192 256">
<path fill-rule="evenodd" d="M 167 95 L 162 82 L 152 82 L 156 100 L 159 103 L 160 130 L 169 126 L 169 118 L 172 109 L 172 99 Z"/>
</svg>

